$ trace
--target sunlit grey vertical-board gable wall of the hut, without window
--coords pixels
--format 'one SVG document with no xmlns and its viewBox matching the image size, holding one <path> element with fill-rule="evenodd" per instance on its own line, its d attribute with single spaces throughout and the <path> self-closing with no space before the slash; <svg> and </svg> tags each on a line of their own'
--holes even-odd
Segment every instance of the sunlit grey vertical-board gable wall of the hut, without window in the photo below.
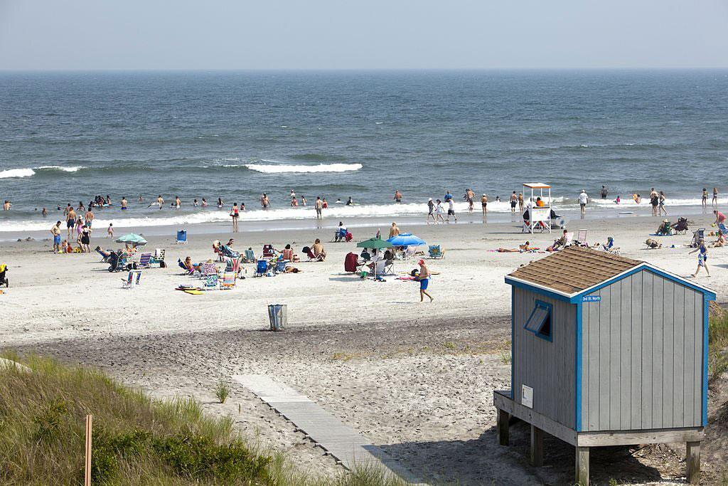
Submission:
<svg viewBox="0 0 728 486">
<path fill-rule="evenodd" d="M 643 270 L 582 303 L 582 431 L 702 423 L 703 294 Z"/>
</svg>

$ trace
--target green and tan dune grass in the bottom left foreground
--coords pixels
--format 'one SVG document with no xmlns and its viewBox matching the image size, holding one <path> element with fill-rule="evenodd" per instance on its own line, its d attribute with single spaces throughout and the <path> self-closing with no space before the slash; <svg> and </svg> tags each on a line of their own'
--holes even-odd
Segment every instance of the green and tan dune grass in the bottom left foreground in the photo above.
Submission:
<svg viewBox="0 0 728 486">
<path fill-rule="evenodd" d="M 159 401 L 103 372 L 12 353 L 0 364 L 0 484 L 80 485 L 85 417 L 94 417 L 94 485 L 399 486 L 379 469 L 335 478 L 297 471 L 285 454 L 243 440 L 231 418 L 192 399 Z"/>
</svg>

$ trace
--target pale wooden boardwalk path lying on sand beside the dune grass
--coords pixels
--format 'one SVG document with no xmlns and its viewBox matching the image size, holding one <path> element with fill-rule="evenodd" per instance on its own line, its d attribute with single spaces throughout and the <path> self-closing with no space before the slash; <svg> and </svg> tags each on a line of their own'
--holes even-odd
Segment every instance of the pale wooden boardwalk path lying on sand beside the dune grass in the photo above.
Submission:
<svg viewBox="0 0 728 486">
<path fill-rule="evenodd" d="M 319 404 L 267 375 L 234 375 L 234 381 L 252 391 L 286 420 L 352 470 L 355 466 L 384 466 L 407 482 L 422 484 L 414 475 L 382 452 L 365 436 L 341 423 Z"/>
</svg>

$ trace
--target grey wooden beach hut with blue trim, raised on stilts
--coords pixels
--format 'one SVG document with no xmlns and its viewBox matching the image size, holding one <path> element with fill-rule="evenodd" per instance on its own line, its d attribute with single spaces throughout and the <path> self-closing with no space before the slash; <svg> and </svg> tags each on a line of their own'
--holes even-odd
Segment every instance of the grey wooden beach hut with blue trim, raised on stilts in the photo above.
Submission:
<svg viewBox="0 0 728 486">
<path fill-rule="evenodd" d="M 589 484 L 590 447 L 687 443 L 697 483 L 708 418 L 710 289 L 652 264 L 569 247 L 519 267 L 511 286 L 511 388 L 494 392 L 499 442 L 508 421 L 576 447 Z"/>
</svg>

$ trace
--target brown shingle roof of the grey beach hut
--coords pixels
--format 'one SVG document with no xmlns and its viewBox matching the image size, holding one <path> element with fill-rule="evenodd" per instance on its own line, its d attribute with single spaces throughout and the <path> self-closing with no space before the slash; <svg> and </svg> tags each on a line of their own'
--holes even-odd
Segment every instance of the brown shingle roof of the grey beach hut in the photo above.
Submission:
<svg viewBox="0 0 728 486">
<path fill-rule="evenodd" d="M 644 262 L 606 251 L 569 246 L 536 262 L 523 265 L 508 276 L 574 294 L 642 263 Z"/>
</svg>

